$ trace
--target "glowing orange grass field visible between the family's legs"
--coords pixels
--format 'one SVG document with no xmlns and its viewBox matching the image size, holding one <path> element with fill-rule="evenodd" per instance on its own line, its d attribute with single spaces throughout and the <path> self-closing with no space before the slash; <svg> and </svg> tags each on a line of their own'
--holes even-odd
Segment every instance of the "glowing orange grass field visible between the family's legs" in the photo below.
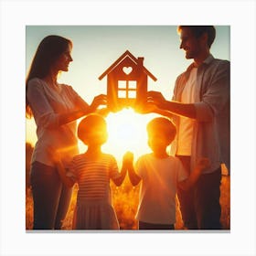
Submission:
<svg viewBox="0 0 256 256">
<path fill-rule="evenodd" d="M 112 187 L 112 202 L 116 210 L 117 217 L 120 222 L 121 229 L 137 229 L 137 223 L 134 220 L 136 208 L 138 205 L 139 187 L 132 187 L 130 181 L 126 177 L 122 187 Z M 221 224 L 223 229 L 230 229 L 230 176 L 222 176 L 221 180 Z M 72 199 L 69 205 L 69 212 L 63 222 L 62 229 L 71 229 L 72 215 L 76 201 L 77 187 L 73 189 Z M 183 229 L 183 222 L 178 209 L 176 210 L 176 229 Z M 31 189 L 27 187 L 26 193 L 26 228 L 33 227 L 33 200 L 31 197 Z"/>
</svg>

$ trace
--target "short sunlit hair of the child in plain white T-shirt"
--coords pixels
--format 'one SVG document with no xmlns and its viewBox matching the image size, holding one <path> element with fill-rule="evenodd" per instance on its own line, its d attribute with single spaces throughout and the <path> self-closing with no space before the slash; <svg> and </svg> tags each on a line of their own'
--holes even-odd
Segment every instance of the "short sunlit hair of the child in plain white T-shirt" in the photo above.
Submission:
<svg viewBox="0 0 256 256">
<path fill-rule="evenodd" d="M 171 144 L 176 136 L 176 125 L 165 117 L 156 117 L 147 123 L 146 131 L 148 134 L 164 133 L 168 144 Z"/>
</svg>

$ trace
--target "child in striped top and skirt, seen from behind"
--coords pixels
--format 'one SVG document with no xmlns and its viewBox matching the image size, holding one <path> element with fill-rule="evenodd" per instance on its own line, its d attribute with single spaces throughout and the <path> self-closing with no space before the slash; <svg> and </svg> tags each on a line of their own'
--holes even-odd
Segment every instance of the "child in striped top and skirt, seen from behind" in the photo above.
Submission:
<svg viewBox="0 0 256 256">
<path fill-rule="evenodd" d="M 59 159 L 56 161 L 66 186 L 74 183 L 79 186 L 73 229 L 120 229 L 112 207 L 110 179 L 121 186 L 127 171 L 125 160 L 119 173 L 115 158 L 101 152 L 108 134 L 107 124 L 100 115 L 85 117 L 79 124 L 78 137 L 88 146 L 87 151 L 75 155 L 67 171 Z"/>
</svg>

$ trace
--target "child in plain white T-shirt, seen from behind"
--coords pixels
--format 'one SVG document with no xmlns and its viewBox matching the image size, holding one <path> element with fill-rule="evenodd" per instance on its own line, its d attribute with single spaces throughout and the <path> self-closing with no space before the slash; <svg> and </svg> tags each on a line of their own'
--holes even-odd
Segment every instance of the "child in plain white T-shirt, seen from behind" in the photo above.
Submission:
<svg viewBox="0 0 256 256">
<path fill-rule="evenodd" d="M 147 134 L 153 152 L 139 157 L 135 167 L 133 153 L 126 155 L 131 183 L 136 186 L 142 181 L 135 219 L 139 229 L 175 229 L 176 188 L 192 187 L 208 166 L 208 159 L 201 158 L 187 177 L 180 160 L 166 152 L 176 136 L 176 126 L 167 118 L 157 117 L 147 124 Z"/>
</svg>

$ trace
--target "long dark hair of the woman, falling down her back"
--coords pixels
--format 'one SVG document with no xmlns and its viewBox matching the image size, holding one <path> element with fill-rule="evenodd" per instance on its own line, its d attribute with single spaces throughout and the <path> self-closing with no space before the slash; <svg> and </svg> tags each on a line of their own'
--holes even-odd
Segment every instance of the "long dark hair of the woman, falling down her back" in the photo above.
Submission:
<svg viewBox="0 0 256 256">
<path fill-rule="evenodd" d="M 26 79 L 26 117 L 31 118 L 33 113 L 31 111 L 29 101 L 27 100 L 27 83 L 33 78 L 43 79 L 48 74 L 59 56 L 72 46 L 72 42 L 59 36 L 48 36 L 43 38 L 37 47 L 36 54 L 32 60 L 30 69 L 27 73 Z"/>
</svg>

